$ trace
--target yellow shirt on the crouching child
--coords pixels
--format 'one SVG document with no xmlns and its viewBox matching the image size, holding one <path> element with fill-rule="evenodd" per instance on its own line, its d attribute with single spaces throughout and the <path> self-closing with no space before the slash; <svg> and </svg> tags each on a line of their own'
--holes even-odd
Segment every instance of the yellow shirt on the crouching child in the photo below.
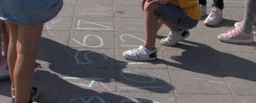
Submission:
<svg viewBox="0 0 256 103">
<path fill-rule="evenodd" d="M 191 19 L 200 20 L 201 11 L 197 0 L 170 0 L 170 3 L 183 9 Z"/>
</svg>

